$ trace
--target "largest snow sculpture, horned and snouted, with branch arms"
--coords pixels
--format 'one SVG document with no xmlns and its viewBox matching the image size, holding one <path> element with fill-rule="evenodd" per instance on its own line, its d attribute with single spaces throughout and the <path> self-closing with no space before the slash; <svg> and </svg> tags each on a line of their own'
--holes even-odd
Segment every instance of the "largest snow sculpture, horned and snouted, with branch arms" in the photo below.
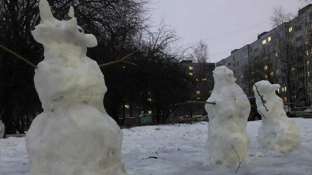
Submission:
<svg viewBox="0 0 312 175">
<path fill-rule="evenodd" d="M 31 174 L 126 174 L 123 134 L 103 105 L 104 76 L 86 57 L 97 40 L 77 25 L 73 7 L 69 21 L 56 20 L 46 0 L 39 9 L 42 22 L 32 35 L 43 44 L 45 59 L 34 82 L 44 112 L 26 135 Z"/>
</svg>

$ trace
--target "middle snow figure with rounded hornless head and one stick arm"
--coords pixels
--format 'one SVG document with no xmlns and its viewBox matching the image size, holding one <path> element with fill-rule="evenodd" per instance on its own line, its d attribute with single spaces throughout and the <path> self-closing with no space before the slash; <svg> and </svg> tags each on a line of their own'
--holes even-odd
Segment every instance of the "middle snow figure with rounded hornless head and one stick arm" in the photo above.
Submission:
<svg viewBox="0 0 312 175">
<path fill-rule="evenodd" d="M 247 159 L 250 136 L 246 125 L 250 103 L 243 90 L 236 85 L 233 71 L 225 66 L 213 71 L 215 81 L 211 96 L 206 104 L 208 113 L 207 158 L 215 164 L 233 164 Z M 235 150 L 233 149 L 235 148 Z"/>
</svg>

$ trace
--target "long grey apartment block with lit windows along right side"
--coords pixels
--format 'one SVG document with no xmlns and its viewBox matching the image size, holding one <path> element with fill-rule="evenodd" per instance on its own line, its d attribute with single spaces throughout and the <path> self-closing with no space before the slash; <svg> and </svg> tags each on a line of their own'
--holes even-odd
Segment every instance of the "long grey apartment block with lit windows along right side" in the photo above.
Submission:
<svg viewBox="0 0 312 175">
<path fill-rule="evenodd" d="M 231 69 L 236 83 L 247 96 L 254 95 L 251 88 L 256 81 L 271 78 L 272 83 L 281 85 L 278 91 L 285 102 L 310 104 L 311 33 L 312 4 L 309 4 L 300 9 L 293 20 L 261 33 L 253 43 L 233 50 L 229 57 L 217 62 L 217 66 L 224 65 Z M 252 84 L 246 82 L 243 79 L 246 64 L 257 64 L 257 61 L 266 59 L 275 64 L 271 65 L 271 70 L 263 78 L 251 80 Z M 269 70 L 270 66 L 264 65 L 263 69 Z"/>
</svg>

